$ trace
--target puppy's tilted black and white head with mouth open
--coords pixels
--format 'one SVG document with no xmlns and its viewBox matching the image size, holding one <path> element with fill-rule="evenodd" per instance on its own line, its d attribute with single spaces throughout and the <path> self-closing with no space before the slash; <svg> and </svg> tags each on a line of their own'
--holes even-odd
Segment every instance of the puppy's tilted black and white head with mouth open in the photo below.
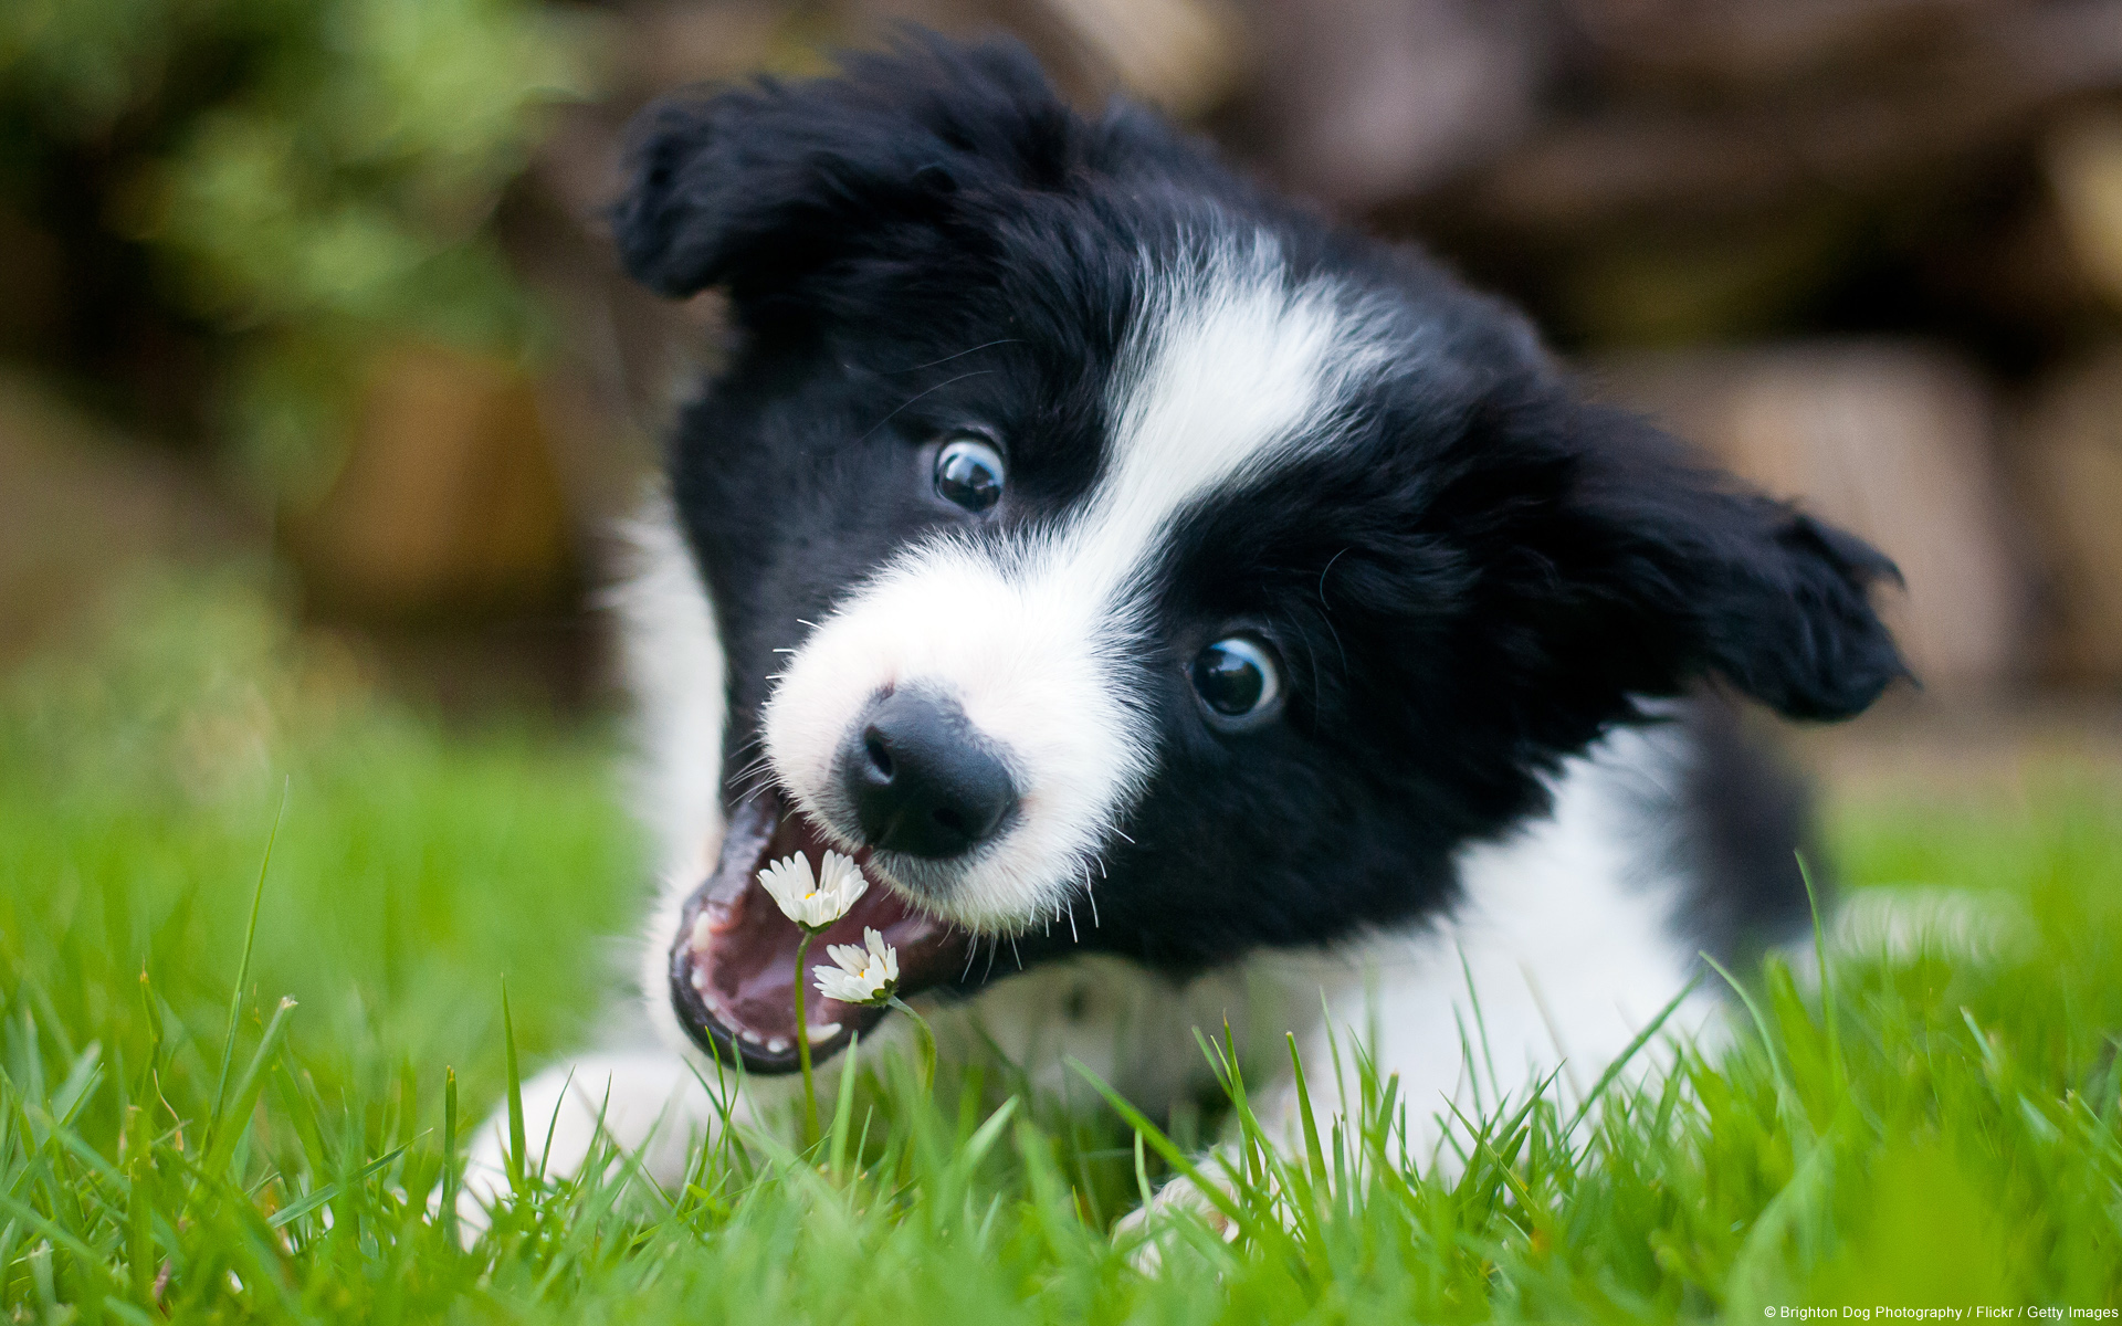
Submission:
<svg viewBox="0 0 2122 1326">
<path fill-rule="evenodd" d="M 662 104 L 615 223 L 734 312 L 671 450 L 728 832 L 664 942 L 755 1069 L 796 1061 L 783 855 L 855 853 L 840 929 L 908 989 L 997 944 L 1184 972 L 1437 906 L 1638 698 L 1842 717 L 1901 673 L 1876 552 L 1016 47 Z M 874 1018 L 815 1004 L 819 1052 Z"/>
</svg>

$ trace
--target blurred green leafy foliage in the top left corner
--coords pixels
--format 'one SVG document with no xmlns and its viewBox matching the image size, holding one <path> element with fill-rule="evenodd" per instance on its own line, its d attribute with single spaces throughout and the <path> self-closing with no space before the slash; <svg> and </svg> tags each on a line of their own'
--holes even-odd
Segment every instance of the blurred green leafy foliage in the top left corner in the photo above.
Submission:
<svg viewBox="0 0 2122 1326">
<path fill-rule="evenodd" d="M 93 193 L 155 299 L 231 337 L 216 431 L 284 494 L 367 346 L 535 350 L 494 208 L 596 45 L 530 0 L 8 0 L 0 199 Z"/>
</svg>

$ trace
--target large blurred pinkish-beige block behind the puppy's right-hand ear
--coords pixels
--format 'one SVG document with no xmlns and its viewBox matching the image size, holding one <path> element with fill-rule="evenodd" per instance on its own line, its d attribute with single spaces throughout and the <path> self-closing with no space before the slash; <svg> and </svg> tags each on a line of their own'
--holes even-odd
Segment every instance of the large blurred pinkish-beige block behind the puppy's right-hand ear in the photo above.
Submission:
<svg viewBox="0 0 2122 1326">
<path fill-rule="evenodd" d="M 1950 354 L 1846 342 L 1617 359 L 1604 395 L 1876 543 L 1908 579 L 1882 609 L 1931 692 L 2020 677 L 2027 590 L 1993 458 L 1993 403 Z"/>
</svg>

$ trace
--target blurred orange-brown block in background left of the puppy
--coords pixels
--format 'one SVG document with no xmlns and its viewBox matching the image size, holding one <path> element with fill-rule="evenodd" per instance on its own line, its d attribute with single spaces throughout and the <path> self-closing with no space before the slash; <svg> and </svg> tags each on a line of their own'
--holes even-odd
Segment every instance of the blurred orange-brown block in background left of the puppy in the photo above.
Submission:
<svg viewBox="0 0 2122 1326">
<path fill-rule="evenodd" d="M 340 613 L 558 603 L 573 528 L 535 384 L 439 346 L 378 356 L 346 467 L 291 543 L 312 596 Z"/>
</svg>

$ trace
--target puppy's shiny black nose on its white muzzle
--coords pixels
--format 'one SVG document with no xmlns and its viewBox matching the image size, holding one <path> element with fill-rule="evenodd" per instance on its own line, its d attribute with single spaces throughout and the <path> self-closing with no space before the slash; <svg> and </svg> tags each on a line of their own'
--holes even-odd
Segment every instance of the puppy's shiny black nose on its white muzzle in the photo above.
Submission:
<svg viewBox="0 0 2122 1326">
<path fill-rule="evenodd" d="M 842 779 L 862 836 L 915 857 L 955 857 L 1016 808 L 1016 783 L 955 702 L 891 692 L 849 730 Z"/>
</svg>

